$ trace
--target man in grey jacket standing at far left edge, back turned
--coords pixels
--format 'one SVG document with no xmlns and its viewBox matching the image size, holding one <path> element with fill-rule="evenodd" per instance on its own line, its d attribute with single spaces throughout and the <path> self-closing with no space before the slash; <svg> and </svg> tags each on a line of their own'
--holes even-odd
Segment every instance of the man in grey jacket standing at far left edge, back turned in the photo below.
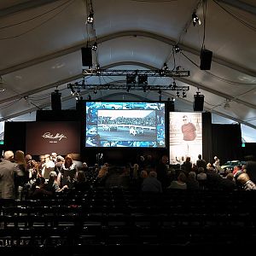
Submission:
<svg viewBox="0 0 256 256">
<path fill-rule="evenodd" d="M 15 199 L 15 176 L 23 176 L 24 173 L 14 163 L 14 152 L 7 150 L 0 160 L 0 198 Z"/>
</svg>

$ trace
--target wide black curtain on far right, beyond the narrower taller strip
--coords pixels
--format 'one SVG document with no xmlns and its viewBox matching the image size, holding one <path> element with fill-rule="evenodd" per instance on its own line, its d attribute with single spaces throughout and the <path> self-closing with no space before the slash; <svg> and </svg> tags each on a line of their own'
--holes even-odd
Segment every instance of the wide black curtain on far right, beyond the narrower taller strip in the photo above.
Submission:
<svg viewBox="0 0 256 256">
<path fill-rule="evenodd" d="M 241 125 L 212 125 L 212 153 L 212 158 L 218 156 L 220 164 L 241 160 Z"/>
</svg>

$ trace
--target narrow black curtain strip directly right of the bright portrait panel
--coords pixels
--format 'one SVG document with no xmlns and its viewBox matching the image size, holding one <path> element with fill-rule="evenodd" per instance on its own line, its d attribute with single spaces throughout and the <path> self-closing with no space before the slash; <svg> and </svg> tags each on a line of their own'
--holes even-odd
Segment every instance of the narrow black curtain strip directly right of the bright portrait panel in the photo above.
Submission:
<svg viewBox="0 0 256 256">
<path fill-rule="evenodd" d="M 202 113 L 202 158 L 212 162 L 212 113 Z"/>
</svg>

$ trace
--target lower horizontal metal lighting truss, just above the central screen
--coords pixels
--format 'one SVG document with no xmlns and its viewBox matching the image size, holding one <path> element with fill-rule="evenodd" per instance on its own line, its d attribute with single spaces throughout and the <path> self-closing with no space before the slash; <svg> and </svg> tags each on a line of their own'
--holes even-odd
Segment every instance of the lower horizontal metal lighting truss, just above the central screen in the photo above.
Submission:
<svg viewBox="0 0 256 256">
<path fill-rule="evenodd" d="M 148 84 L 67 84 L 67 89 L 74 90 L 176 90 L 188 91 L 189 86 L 170 85 L 148 85 Z"/>
</svg>

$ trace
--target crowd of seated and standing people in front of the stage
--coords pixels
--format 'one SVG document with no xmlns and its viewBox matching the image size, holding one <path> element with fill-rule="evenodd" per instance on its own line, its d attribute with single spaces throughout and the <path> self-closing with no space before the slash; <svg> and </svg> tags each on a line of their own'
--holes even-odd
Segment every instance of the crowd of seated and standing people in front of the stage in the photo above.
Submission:
<svg viewBox="0 0 256 256">
<path fill-rule="evenodd" d="M 199 154 L 195 163 L 187 157 L 183 163 L 171 166 L 167 155 L 159 161 L 142 155 L 136 163 L 124 166 L 106 162 L 89 167 L 75 154 L 44 154 L 37 161 L 21 150 L 7 150 L 0 160 L 0 198 L 44 199 L 60 192 L 97 187 L 137 189 L 138 193 L 162 193 L 168 189 L 252 190 L 256 189 L 255 163 L 249 160 L 247 165 L 223 170 L 217 156 L 212 163 Z"/>
</svg>

